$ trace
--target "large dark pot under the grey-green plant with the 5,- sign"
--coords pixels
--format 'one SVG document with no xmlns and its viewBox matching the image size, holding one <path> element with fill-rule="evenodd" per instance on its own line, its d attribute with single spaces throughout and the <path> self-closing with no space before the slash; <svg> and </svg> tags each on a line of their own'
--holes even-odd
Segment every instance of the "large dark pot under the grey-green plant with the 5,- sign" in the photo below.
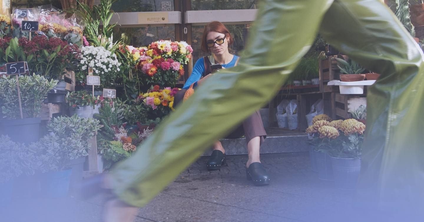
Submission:
<svg viewBox="0 0 424 222">
<path fill-rule="evenodd" d="M 39 140 L 41 118 L 2 120 L 3 132 L 14 142 L 30 144 Z"/>
</svg>

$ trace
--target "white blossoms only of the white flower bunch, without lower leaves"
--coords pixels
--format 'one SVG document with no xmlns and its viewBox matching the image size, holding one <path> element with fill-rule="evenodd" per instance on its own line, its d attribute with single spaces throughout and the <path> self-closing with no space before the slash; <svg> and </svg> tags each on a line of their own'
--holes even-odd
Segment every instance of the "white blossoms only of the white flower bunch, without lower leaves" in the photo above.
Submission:
<svg viewBox="0 0 424 222">
<path fill-rule="evenodd" d="M 104 47 L 83 46 L 81 48 L 81 69 L 87 70 L 92 67 L 94 74 L 106 74 L 108 72 L 120 71 L 116 55 Z"/>
</svg>

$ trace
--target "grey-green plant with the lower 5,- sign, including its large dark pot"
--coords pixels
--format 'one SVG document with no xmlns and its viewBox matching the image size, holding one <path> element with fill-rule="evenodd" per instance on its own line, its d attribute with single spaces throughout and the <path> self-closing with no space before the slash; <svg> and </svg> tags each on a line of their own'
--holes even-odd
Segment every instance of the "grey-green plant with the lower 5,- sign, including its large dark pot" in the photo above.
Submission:
<svg viewBox="0 0 424 222">
<path fill-rule="evenodd" d="M 39 139 L 39 113 L 41 102 L 57 83 L 40 75 L 19 77 L 20 98 L 23 117 L 20 118 L 20 108 L 17 93 L 17 81 L 14 76 L 0 77 L 0 106 L 3 126 L 11 140 L 20 143 L 31 143 Z M 25 135 L 25 136 L 21 136 Z"/>
</svg>

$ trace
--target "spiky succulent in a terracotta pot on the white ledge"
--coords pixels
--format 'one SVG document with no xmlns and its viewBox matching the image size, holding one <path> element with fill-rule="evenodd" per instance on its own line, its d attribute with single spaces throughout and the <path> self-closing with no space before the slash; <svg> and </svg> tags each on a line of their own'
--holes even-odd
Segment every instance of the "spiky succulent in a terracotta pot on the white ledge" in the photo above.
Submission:
<svg viewBox="0 0 424 222">
<path fill-rule="evenodd" d="M 334 58 L 337 61 L 337 67 L 341 72 L 345 74 L 340 74 L 340 81 L 342 82 L 355 82 L 362 81 L 365 79 L 365 74 L 360 74 L 365 70 L 362 66 L 356 63 L 352 59 L 347 61 L 341 58 Z"/>
</svg>

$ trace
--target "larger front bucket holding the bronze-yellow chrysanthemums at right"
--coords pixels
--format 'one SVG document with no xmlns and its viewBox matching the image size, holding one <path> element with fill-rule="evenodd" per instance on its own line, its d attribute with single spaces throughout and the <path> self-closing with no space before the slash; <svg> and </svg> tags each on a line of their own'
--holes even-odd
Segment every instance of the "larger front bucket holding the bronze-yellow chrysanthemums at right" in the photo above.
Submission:
<svg viewBox="0 0 424 222">
<path fill-rule="evenodd" d="M 331 161 L 336 188 L 354 190 L 361 170 L 361 159 L 331 157 Z"/>
</svg>

